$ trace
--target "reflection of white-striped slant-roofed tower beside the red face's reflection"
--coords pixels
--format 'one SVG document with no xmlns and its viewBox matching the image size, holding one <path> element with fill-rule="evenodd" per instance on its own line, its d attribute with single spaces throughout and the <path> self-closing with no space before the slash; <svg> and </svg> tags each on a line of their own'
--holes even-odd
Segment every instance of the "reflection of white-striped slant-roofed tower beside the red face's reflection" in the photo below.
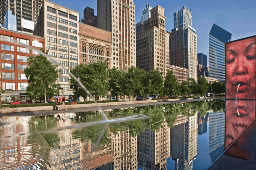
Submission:
<svg viewBox="0 0 256 170">
<path fill-rule="evenodd" d="M 214 162 L 224 149 L 225 113 L 209 113 L 209 154 Z"/>
</svg>

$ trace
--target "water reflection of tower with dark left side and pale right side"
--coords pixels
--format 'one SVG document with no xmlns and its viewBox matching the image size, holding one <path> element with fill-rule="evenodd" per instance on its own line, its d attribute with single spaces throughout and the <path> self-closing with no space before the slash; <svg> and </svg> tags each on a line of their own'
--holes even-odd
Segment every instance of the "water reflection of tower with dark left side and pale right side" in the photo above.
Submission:
<svg viewBox="0 0 256 170">
<path fill-rule="evenodd" d="M 192 170 L 197 155 L 197 111 L 195 116 L 183 115 L 183 119 L 170 130 L 170 155 L 175 170 Z"/>
</svg>

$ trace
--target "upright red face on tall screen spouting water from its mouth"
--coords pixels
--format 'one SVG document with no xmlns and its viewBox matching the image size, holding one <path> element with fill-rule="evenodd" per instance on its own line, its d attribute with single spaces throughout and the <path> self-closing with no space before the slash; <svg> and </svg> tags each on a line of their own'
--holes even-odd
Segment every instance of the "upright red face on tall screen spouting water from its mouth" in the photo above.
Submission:
<svg viewBox="0 0 256 170">
<path fill-rule="evenodd" d="M 226 98 L 236 94 L 238 99 L 255 99 L 254 37 L 226 44 Z"/>
</svg>

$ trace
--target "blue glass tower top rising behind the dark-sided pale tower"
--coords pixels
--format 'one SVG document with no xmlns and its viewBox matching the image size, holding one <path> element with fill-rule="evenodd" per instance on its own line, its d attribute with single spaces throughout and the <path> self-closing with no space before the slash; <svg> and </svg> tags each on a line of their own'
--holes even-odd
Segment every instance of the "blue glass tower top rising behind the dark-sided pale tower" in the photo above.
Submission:
<svg viewBox="0 0 256 170">
<path fill-rule="evenodd" d="M 183 6 L 179 12 L 175 12 L 174 16 L 174 29 L 190 28 L 192 29 L 192 11 L 186 6 Z"/>
</svg>

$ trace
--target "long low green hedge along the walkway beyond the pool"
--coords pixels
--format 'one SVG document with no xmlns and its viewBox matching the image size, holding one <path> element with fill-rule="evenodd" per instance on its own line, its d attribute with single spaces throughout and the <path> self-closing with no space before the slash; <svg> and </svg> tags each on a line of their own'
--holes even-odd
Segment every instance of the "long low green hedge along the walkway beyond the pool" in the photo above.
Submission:
<svg viewBox="0 0 256 170">
<path fill-rule="evenodd" d="M 119 100 L 104 100 L 97 101 L 97 103 L 108 103 L 108 102 L 119 102 Z M 89 104 L 94 103 L 94 101 L 87 102 L 76 102 L 77 104 Z M 55 106 L 57 103 L 33 103 L 33 104 L 20 104 L 20 105 L 2 105 L 2 108 L 23 108 L 23 107 L 36 107 L 36 106 Z M 66 105 L 71 105 L 71 102 L 66 102 Z"/>
</svg>

